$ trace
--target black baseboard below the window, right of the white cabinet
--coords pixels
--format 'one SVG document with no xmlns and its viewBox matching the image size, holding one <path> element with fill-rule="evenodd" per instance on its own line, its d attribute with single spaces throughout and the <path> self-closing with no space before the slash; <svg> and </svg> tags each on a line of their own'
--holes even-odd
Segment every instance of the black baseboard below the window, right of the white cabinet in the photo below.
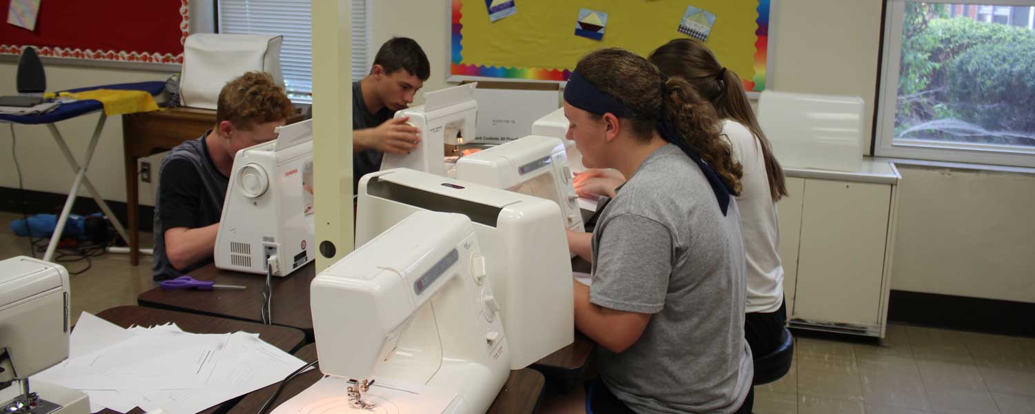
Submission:
<svg viewBox="0 0 1035 414">
<path fill-rule="evenodd" d="M 911 325 L 1035 336 L 1035 303 L 892 290 L 888 320 Z"/>
</svg>

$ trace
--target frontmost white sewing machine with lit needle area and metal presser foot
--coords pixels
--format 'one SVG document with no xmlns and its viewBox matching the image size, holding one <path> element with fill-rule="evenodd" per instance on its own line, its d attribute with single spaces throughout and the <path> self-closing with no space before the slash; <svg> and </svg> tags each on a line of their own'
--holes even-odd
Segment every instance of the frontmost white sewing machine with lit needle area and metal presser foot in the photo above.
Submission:
<svg viewBox="0 0 1035 414">
<path fill-rule="evenodd" d="M 416 237 L 419 235 L 419 237 Z M 357 380 L 424 384 L 483 413 L 510 374 L 510 348 L 471 220 L 417 211 L 313 279 L 320 369 Z"/>
</svg>

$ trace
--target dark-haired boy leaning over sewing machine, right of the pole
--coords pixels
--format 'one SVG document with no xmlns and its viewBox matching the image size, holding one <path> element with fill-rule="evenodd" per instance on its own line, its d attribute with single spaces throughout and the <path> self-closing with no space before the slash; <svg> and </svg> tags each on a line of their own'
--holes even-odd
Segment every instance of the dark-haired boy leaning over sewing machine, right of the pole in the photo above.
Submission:
<svg viewBox="0 0 1035 414">
<path fill-rule="evenodd" d="M 411 38 L 392 37 L 378 51 L 371 73 L 352 83 L 352 191 L 359 178 L 381 169 L 385 152 L 405 154 L 417 148 L 419 130 L 408 118 L 392 118 L 406 109 L 431 76 L 427 56 Z"/>
</svg>

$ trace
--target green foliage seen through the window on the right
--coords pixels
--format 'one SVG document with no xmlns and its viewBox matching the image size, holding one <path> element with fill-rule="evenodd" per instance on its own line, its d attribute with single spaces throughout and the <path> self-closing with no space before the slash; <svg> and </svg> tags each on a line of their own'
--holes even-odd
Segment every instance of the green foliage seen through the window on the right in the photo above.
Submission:
<svg viewBox="0 0 1035 414">
<path fill-rule="evenodd" d="M 1035 145 L 1035 31 L 910 2 L 901 40 L 896 137 Z"/>
</svg>

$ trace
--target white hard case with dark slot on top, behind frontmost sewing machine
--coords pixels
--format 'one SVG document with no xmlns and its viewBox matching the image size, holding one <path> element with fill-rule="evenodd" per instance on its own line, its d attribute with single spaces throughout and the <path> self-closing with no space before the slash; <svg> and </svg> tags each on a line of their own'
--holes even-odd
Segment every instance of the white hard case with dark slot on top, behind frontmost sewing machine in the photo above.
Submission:
<svg viewBox="0 0 1035 414">
<path fill-rule="evenodd" d="M 471 218 L 500 304 L 512 369 L 574 339 L 571 260 L 557 203 L 407 169 L 367 174 L 358 196 L 356 245 L 415 211 Z M 411 237 L 416 242 L 428 236 Z M 474 262 L 480 266 L 481 260 Z"/>
</svg>

